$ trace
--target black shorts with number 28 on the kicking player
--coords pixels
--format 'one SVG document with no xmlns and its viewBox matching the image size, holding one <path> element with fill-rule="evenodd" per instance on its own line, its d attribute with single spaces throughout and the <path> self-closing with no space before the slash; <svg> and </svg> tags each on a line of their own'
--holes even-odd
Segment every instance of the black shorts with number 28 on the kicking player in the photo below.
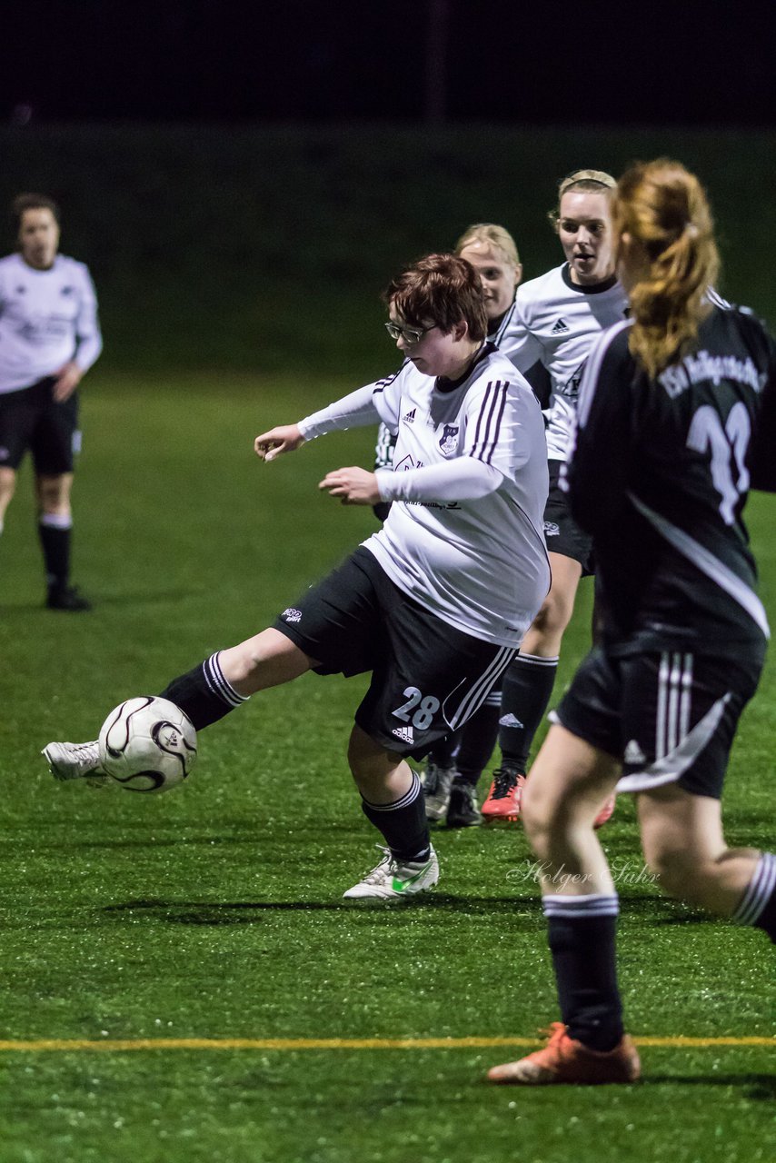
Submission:
<svg viewBox="0 0 776 1163">
<path fill-rule="evenodd" d="M 356 722 L 389 751 L 421 759 L 482 706 L 514 658 L 448 626 L 359 547 L 275 622 L 319 675 L 372 671 Z"/>
</svg>

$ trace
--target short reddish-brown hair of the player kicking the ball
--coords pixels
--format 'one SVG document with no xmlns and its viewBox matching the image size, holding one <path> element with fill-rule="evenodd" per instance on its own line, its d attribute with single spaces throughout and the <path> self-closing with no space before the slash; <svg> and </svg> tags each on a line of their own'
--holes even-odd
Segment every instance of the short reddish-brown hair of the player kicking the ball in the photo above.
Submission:
<svg viewBox="0 0 776 1163">
<path fill-rule="evenodd" d="M 483 285 L 465 258 L 427 255 L 392 279 L 383 299 L 411 327 L 432 322 L 449 335 L 463 320 L 476 343 L 487 334 Z"/>
</svg>

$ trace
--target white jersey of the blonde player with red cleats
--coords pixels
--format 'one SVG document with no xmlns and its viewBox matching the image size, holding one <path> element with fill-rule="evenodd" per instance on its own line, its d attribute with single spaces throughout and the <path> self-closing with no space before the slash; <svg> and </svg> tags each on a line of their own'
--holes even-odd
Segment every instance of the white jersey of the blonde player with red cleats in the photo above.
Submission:
<svg viewBox="0 0 776 1163">
<path fill-rule="evenodd" d="M 518 287 L 515 309 L 499 340 L 499 350 L 527 371 L 542 363 L 551 378 L 551 397 L 544 411 L 547 455 L 568 459 L 579 383 L 593 340 L 626 317 L 627 298 L 612 277 L 595 286 L 571 281 L 563 263 Z"/>
</svg>

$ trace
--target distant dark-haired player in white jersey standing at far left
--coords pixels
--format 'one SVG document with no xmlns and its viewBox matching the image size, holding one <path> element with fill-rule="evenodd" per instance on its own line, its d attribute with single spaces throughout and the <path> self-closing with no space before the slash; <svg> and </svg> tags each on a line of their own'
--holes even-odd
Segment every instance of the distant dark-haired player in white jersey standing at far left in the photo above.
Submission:
<svg viewBox="0 0 776 1163">
<path fill-rule="evenodd" d="M 59 209 L 20 194 L 19 251 L 0 261 L 0 531 L 16 470 L 33 454 L 49 609 L 90 602 L 70 584 L 70 493 L 78 451 L 78 384 L 102 349 L 97 295 L 84 263 L 58 254 Z"/>
</svg>

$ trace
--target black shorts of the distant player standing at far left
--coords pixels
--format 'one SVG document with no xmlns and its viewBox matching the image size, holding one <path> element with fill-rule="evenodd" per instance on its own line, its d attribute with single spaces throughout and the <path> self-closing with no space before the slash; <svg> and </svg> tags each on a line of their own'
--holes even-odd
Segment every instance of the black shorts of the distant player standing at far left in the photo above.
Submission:
<svg viewBox="0 0 776 1163">
<path fill-rule="evenodd" d="M 38 476 L 73 471 L 80 447 L 78 393 L 57 404 L 54 384 L 49 376 L 31 387 L 0 394 L 0 468 L 17 469 L 29 449 Z"/>
</svg>

